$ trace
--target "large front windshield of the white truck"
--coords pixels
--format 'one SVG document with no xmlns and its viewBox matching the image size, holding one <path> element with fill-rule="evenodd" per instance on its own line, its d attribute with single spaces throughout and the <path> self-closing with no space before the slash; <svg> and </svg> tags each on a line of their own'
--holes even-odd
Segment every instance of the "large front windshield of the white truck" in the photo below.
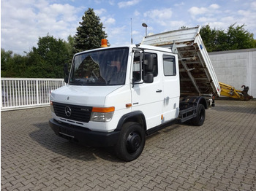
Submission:
<svg viewBox="0 0 256 191">
<path fill-rule="evenodd" d="M 124 85 L 128 47 L 104 49 L 76 55 L 70 85 Z"/>
</svg>

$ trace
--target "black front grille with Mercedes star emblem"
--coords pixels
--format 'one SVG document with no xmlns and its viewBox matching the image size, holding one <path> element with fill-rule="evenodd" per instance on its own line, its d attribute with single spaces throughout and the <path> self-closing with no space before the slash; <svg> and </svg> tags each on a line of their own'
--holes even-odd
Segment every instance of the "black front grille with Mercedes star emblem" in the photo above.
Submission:
<svg viewBox="0 0 256 191">
<path fill-rule="evenodd" d="M 71 114 L 68 116 L 65 109 L 69 107 Z M 91 106 L 75 106 L 69 104 L 60 104 L 53 102 L 54 112 L 58 117 L 63 117 L 68 120 L 75 120 L 79 122 L 89 122 L 91 118 Z"/>
</svg>

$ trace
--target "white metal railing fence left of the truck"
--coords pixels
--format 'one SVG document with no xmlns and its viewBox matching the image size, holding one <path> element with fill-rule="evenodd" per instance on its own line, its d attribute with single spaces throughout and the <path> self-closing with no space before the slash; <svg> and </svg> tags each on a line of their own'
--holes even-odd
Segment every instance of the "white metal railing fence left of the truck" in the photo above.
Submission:
<svg viewBox="0 0 256 191">
<path fill-rule="evenodd" d="M 64 79 L 1 78 L 1 111 L 48 106 L 50 91 L 64 85 Z"/>
</svg>

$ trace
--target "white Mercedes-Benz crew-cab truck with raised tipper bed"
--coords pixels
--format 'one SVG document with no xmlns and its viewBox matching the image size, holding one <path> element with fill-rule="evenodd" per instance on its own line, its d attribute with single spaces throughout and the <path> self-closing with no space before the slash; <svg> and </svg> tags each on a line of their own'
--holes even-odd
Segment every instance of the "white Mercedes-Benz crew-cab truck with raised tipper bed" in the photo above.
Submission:
<svg viewBox="0 0 256 191">
<path fill-rule="evenodd" d="M 67 85 L 50 94 L 50 127 L 81 144 L 113 146 L 117 157 L 131 161 L 143 152 L 146 136 L 170 122 L 203 125 L 220 87 L 199 31 L 75 54 Z"/>
</svg>

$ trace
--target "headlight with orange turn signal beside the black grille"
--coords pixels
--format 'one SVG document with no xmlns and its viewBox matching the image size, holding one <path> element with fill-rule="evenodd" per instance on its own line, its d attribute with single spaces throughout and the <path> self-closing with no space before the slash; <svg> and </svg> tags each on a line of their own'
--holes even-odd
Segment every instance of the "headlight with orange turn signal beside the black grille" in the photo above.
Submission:
<svg viewBox="0 0 256 191">
<path fill-rule="evenodd" d="M 115 107 L 93 107 L 91 111 L 91 121 L 110 122 L 112 120 Z"/>
</svg>

